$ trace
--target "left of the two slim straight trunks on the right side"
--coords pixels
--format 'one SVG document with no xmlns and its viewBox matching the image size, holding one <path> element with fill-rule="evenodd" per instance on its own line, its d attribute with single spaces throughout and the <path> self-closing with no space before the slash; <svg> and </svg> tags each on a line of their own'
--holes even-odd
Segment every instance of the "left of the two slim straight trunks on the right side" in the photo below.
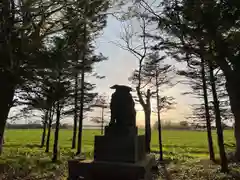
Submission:
<svg viewBox="0 0 240 180">
<path fill-rule="evenodd" d="M 202 84 L 203 84 L 203 96 L 204 96 L 204 106 L 205 106 L 205 118 L 206 118 L 206 126 L 207 126 L 207 137 L 208 137 L 208 149 L 209 149 L 209 158 L 210 160 L 215 160 L 215 154 L 213 150 L 213 140 L 212 140 L 212 130 L 211 130 L 211 121 L 210 121 L 210 113 L 208 106 L 208 93 L 207 93 L 207 84 L 206 84 L 206 75 L 205 75 L 205 65 L 204 59 L 201 57 L 201 76 L 202 76 Z"/>
</svg>

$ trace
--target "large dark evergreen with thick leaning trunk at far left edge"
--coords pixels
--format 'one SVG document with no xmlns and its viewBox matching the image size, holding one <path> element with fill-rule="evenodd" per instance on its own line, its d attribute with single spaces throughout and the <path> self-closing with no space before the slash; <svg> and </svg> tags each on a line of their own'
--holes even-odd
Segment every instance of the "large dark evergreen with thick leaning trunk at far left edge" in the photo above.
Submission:
<svg viewBox="0 0 240 180">
<path fill-rule="evenodd" d="M 3 1 L 0 6 L 0 142 L 15 93 L 35 78 L 46 38 L 63 29 L 66 1 Z M 53 18 L 56 14 L 60 15 Z M 2 149 L 2 145 L 0 146 Z"/>
</svg>

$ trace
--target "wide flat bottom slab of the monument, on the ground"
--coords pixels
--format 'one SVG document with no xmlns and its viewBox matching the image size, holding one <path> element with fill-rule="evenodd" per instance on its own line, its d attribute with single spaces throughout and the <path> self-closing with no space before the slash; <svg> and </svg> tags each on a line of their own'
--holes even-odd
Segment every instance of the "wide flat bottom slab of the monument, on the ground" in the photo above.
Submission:
<svg viewBox="0 0 240 180">
<path fill-rule="evenodd" d="M 152 155 L 136 163 L 70 160 L 69 180 L 151 180 L 155 164 Z"/>
</svg>

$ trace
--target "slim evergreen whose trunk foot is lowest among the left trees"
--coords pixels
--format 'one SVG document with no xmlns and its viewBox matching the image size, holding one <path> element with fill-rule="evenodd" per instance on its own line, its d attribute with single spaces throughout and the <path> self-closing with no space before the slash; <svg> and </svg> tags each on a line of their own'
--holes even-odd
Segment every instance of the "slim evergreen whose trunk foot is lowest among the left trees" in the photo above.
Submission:
<svg viewBox="0 0 240 180">
<path fill-rule="evenodd" d="M 50 70 L 50 76 L 52 78 L 51 87 L 53 87 L 53 101 L 56 107 L 56 127 L 54 134 L 53 144 L 53 157 L 52 161 L 56 161 L 58 158 L 58 140 L 59 140 L 59 127 L 60 119 L 64 110 L 64 106 L 70 100 L 69 94 L 71 93 L 71 83 L 69 82 L 69 75 L 71 70 L 69 69 L 69 61 L 66 60 L 65 48 L 67 43 L 65 39 L 55 38 L 54 48 L 52 49 L 52 68 Z"/>
</svg>

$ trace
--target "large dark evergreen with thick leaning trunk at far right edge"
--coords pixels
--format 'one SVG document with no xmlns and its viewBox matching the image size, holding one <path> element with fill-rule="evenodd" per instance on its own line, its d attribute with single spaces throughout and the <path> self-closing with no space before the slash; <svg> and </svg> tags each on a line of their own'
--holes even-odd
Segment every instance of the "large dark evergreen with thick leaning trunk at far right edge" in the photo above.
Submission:
<svg viewBox="0 0 240 180">
<path fill-rule="evenodd" d="M 143 6 L 149 10 L 151 6 L 146 4 Z M 168 34 L 167 38 L 163 38 L 166 49 L 178 54 L 185 54 L 185 58 L 182 59 L 188 63 L 191 61 L 191 54 L 203 56 L 204 60 L 210 61 L 223 71 L 236 122 L 236 157 L 239 159 L 240 96 L 238 93 L 239 80 L 234 78 L 238 77 L 240 72 L 239 63 L 236 61 L 239 56 L 239 48 L 235 46 L 239 40 L 237 38 L 239 33 L 233 31 L 239 26 L 239 3 L 224 0 L 165 0 L 161 5 L 163 9 L 161 14 L 149 11 L 151 15 L 148 17 L 150 21 L 157 23 L 158 27 Z M 226 170 L 222 166 L 222 170 L 224 169 Z"/>
</svg>

